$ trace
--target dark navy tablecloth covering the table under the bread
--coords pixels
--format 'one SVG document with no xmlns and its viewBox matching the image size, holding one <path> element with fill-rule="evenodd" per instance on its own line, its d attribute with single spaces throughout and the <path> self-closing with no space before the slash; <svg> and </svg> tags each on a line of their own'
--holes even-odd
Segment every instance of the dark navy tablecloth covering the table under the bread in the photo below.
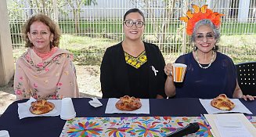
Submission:
<svg viewBox="0 0 256 137">
<path fill-rule="evenodd" d="M 153 117 L 153 116 L 184 116 L 199 117 L 207 114 L 199 99 L 150 99 L 150 114 L 105 114 L 108 99 L 99 99 L 103 106 L 94 108 L 90 106 L 88 98 L 72 99 L 77 117 Z M 17 103 L 26 102 L 27 99 L 12 103 L 0 117 L 0 130 L 8 130 L 11 137 L 16 136 L 52 136 L 58 137 L 66 121 L 57 117 L 27 117 L 19 119 Z M 256 101 L 240 101 L 256 115 Z M 249 116 L 249 115 L 247 115 Z"/>
</svg>

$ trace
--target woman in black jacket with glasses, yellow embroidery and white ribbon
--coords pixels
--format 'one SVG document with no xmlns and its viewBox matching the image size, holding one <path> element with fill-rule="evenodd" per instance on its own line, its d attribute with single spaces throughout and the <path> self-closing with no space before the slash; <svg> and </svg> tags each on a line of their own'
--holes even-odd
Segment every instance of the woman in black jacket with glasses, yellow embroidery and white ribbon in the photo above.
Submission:
<svg viewBox="0 0 256 137">
<path fill-rule="evenodd" d="M 103 98 L 165 98 L 164 57 L 157 45 L 142 41 L 145 17 L 139 9 L 124 14 L 124 41 L 106 49 L 100 67 Z"/>
</svg>

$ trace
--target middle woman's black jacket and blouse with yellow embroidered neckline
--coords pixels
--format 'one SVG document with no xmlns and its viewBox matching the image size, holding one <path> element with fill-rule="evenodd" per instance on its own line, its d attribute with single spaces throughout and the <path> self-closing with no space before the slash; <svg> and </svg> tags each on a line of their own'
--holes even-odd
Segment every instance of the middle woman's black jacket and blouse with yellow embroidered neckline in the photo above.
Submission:
<svg viewBox="0 0 256 137">
<path fill-rule="evenodd" d="M 106 49 L 100 66 L 103 98 L 120 98 L 126 95 L 144 99 L 155 99 L 157 95 L 166 97 L 164 56 L 157 45 L 145 41 L 143 43 L 146 54 L 133 60 L 129 60 L 128 56 L 125 59 L 122 42 Z M 137 94 L 139 95 L 136 96 Z"/>
</svg>

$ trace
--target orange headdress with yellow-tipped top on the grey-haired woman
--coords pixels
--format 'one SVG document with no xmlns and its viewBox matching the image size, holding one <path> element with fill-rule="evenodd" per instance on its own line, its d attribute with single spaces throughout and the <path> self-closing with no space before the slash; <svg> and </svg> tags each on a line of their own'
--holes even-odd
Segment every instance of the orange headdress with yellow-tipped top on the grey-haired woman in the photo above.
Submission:
<svg viewBox="0 0 256 137">
<path fill-rule="evenodd" d="M 191 10 L 186 12 L 186 16 L 182 16 L 179 20 L 186 22 L 186 33 L 191 35 L 193 33 L 193 27 L 199 20 L 208 19 L 219 27 L 221 24 L 221 16 L 224 14 L 213 12 L 211 9 L 207 9 L 207 5 L 203 5 L 201 8 L 198 5 L 193 5 L 194 13 Z"/>
</svg>

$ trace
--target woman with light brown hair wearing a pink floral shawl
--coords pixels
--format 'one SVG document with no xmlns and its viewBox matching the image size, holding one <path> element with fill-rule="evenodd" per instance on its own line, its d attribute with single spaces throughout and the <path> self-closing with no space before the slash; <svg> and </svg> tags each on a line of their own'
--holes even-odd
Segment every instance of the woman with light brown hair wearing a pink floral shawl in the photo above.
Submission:
<svg viewBox="0 0 256 137">
<path fill-rule="evenodd" d="M 27 52 L 16 60 L 17 99 L 78 97 L 73 55 L 59 49 L 59 27 L 49 16 L 31 16 L 23 26 Z"/>
</svg>

